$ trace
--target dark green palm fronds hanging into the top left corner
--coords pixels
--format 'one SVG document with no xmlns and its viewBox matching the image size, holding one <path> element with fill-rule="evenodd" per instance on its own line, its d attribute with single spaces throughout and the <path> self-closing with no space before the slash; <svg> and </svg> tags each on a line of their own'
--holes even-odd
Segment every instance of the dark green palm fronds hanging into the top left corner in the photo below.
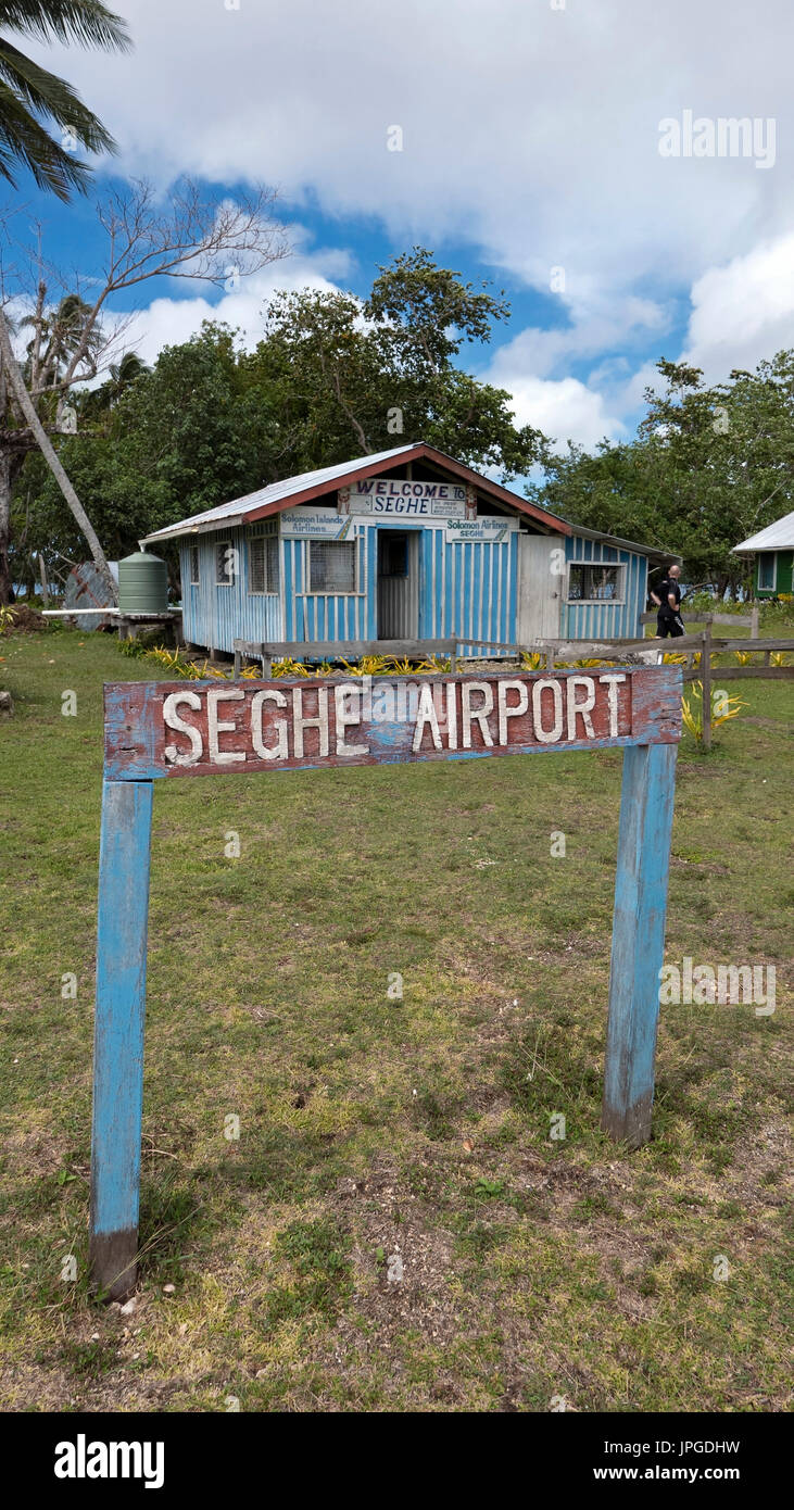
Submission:
<svg viewBox="0 0 794 1510">
<path fill-rule="evenodd" d="M 89 153 L 112 153 L 116 143 L 71 85 L 26 57 L 8 32 L 127 51 L 127 23 L 103 0 L 0 0 L 0 177 L 15 187 L 23 166 L 39 189 L 68 199 L 72 189 L 86 189 L 91 174 L 69 151 L 69 134 Z M 42 121 L 59 125 L 62 139 Z"/>
</svg>

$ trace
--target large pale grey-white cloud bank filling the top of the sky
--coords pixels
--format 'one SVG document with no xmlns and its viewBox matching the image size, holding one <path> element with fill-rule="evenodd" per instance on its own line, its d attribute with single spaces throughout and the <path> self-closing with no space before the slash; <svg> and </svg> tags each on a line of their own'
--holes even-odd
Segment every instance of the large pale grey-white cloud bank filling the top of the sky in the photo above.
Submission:
<svg viewBox="0 0 794 1510">
<path fill-rule="evenodd" d="M 685 109 L 773 116 L 785 142 L 788 0 L 767 0 L 764 26 L 738 24 L 738 0 L 667 0 L 651 21 L 625 0 L 127 0 L 124 12 L 130 56 L 39 56 L 107 121 L 122 169 L 163 186 L 183 171 L 264 178 L 406 240 L 465 236 L 540 285 L 560 263 L 601 287 L 691 281 L 791 213 L 780 163 L 658 151 L 660 122 Z M 392 124 L 402 153 L 386 149 Z"/>
</svg>

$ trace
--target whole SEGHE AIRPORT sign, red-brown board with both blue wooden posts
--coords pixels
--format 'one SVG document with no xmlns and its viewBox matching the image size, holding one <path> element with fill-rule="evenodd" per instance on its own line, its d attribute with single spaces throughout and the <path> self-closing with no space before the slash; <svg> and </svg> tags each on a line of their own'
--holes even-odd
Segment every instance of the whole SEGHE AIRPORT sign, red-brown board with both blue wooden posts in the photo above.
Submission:
<svg viewBox="0 0 794 1510">
<path fill-rule="evenodd" d="M 91 1264 L 136 1284 L 154 781 L 623 747 L 602 1126 L 651 1137 L 681 667 L 104 689 Z"/>
</svg>

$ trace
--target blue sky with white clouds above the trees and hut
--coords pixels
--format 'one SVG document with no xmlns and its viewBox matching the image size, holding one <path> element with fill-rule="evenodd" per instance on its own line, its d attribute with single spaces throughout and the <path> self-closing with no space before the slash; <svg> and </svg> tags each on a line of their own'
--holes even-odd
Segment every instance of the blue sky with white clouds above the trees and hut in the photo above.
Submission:
<svg viewBox="0 0 794 1510">
<path fill-rule="evenodd" d="M 462 362 L 560 448 L 629 438 L 661 356 L 720 382 L 794 346 L 791 0 L 115 9 L 125 56 L 23 44 L 119 143 L 97 192 L 264 183 L 293 245 L 232 291 L 139 285 L 124 307 L 148 361 L 210 316 L 254 346 L 273 288 L 365 296 L 417 243 L 506 290 L 510 322 Z M 20 178 L 2 204 L 42 225 L 53 261 L 94 275 L 91 201 L 62 207 Z"/>
</svg>

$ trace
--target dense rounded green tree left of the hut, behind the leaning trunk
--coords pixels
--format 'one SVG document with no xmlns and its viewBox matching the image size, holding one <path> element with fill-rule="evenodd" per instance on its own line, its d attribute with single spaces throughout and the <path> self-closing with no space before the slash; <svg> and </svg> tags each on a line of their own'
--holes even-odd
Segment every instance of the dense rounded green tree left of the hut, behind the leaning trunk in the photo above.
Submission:
<svg viewBox="0 0 794 1510">
<path fill-rule="evenodd" d="M 261 486 L 278 430 L 226 326 L 205 322 L 190 341 L 163 347 L 151 371 L 140 371 L 139 359 L 119 365 L 136 370 L 134 379 L 110 405 L 112 378 L 77 396 L 77 433 L 60 442 L 110 559 L 162 525 Z M 30 551 L 44 553 L 51 577 L 59 559 L 77 559 L 80 530 L 35 455 L 15 491 L 12 524 L 21 547 L 15 580 L 24 580 Z"/>
</svg>

